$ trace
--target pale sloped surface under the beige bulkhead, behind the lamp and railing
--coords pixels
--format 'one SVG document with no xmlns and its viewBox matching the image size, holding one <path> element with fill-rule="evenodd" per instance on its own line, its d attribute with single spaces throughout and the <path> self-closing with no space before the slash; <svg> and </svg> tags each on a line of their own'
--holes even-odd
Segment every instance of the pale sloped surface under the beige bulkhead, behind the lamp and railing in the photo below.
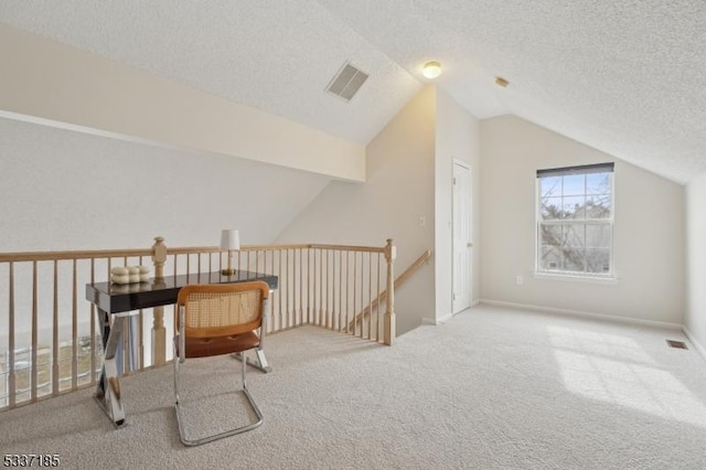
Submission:
<svg viewBox="0 0 706 470">
<path fill-rule="evenodd" d="M 0 136 L 0 252 L 271 243 L 330 181 L 2 118 Z"/>
</svg>

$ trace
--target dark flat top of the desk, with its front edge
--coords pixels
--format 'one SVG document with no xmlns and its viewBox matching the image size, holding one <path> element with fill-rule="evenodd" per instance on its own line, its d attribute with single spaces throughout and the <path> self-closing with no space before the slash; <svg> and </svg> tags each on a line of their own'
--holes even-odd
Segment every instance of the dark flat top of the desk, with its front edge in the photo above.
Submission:
<svg viewBox="0 0 706 470">
<path fill-rule="evenodd" d="M 220 271 L 191 275 L 164 276 L 161 282 L 150 279 L 146 282 L 118 285 L 94 282 L 86 285 L 86 300 L 95 303 L 108 313 L 128 312 L 167 306 L 176 302 L 179 289 L 188 284 L 229 284 L 263 280 L 270 289 L 277 289 L 277 276 L 236 270 L 233 276 L 223 276 Z"/>
</svg>

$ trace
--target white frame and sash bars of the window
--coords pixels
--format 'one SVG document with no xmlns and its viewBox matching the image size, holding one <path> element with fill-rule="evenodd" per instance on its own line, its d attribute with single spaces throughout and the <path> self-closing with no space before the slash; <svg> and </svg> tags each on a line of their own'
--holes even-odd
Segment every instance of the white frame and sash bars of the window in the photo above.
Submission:
<svg viewBox="0 0 706 470">
<path fill-rule="evenodd" d="M 588 273 L 586 271 L 586 263 L 584 264 L 584 271 L 569 271 L 563 269 L 547 269 L 542 267 L 541 256 L 542 256 L 542 225 L 557 225 L 563 226 L 567 224 L 567 221 L 544 221 L 542 218 L 542 178 L 546 177 L 558 177 L 558 175 L 569 175 L 569 174 L 588 174 L 588 173 L 597 173 L 597 172 L 609 172 L 610 175 L 610 216 L 600 220 L 589 220 L 584 217 L 584 220 L 571 220 L 573 224 L 577 222 L 579 224 L 587 225 L 607 225 L 610 227 L 610 244 L 608 246 L 609 249 L 609 269 L 605 273 Z M 564 191 L 564 190 L 563 190 Z M 564 196 L 564 192 L 561 192 Z M 586 193 L 585 193 L 586 195 Z M 598 164 L 587 164 L 579 167 L 565 167 L 565 168 L 556 168 L 556 169 L 547 169 L 547 170 L 537 170 L 537 177 L 535 181 L 535 277 L 546 277 L 546 278 L 556 278 L 561 280 L 607 280 L 614 281 L 616 278 L 616 267 L 614 267 L 614 220 L 616 220 L 616 173 L 614 173 L 614 163 L 598 163 Z"/>
</svg>

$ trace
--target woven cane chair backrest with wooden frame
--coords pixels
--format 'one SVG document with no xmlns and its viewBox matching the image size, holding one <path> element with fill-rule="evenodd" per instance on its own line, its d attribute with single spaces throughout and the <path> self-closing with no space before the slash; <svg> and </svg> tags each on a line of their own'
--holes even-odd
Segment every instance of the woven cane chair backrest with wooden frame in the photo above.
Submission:
<svg viewBox="0 0 706 470">
<path fill-rule="evenodd" d="M 220 338 L 253 331 L 263 324 L 269 286 L 263 281 L 192 284 L 179 291 L 176 307 L 184 309 L 184 334 Z M 181 330 L 180 316 L 176 329 Z"/>
</svg>

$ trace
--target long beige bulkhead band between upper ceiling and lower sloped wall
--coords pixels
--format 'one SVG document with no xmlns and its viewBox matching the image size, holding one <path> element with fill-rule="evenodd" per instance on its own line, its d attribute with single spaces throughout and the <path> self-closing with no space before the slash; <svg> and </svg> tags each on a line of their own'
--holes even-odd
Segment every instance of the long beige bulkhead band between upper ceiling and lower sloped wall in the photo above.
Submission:
<svg viewBox="0 0 706 470">
<path fill-rule="evenodd" d="M 0 24 L 0 113 L 352 181 L 365 148 Z"/>
</svg>

